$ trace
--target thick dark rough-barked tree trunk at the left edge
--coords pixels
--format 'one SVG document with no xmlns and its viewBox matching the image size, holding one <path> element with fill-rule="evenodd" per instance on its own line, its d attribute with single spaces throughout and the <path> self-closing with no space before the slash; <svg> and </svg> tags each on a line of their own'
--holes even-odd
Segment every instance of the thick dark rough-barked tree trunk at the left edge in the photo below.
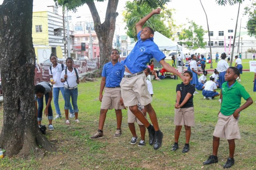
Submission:
<svg viewBox="0 0 256 170">
<path fill-rule="evenodd" d="M 32 44 L 33 0 L 4 0 L 0 5 L 0 69 L 4 126 L 0 146 L 7 156 L 44 156 L 52 144 L 39 131 L 34 104 L 35 53 Z"/>
</svg>

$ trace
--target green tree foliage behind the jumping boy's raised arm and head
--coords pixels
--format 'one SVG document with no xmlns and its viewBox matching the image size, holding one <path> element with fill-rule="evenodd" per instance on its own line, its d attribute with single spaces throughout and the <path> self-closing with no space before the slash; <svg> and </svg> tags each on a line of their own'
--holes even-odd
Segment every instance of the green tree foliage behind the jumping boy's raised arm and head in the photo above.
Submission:
<svg viewBox="0 0 256 170">
<path fill-rule="evenodd" d="M 152 11 L 153 8 L 148 4 L 141 4 L 138 6 L 136 2 L 126 2 L 125 11 L 123 12 L 124 21 L 126 22 L 126 34 L 130 38 L 137 40 L 135 24 L 144 16 Z M 152 16 L 144 26 L 153 28 L 154 31 L 158 31 L 164 36 L 170 38 L 176 30 L 176 25 L 172 18 L 173 10 L 166 9 L 159 15 Z"/>
</svg>

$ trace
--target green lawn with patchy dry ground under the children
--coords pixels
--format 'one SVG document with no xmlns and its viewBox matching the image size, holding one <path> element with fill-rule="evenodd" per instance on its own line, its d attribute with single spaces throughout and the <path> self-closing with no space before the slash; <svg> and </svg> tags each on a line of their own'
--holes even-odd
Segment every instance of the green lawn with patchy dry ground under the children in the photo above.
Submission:
<svg viewBox="0 0 256 170">
<path fill-rule="evenodd" d="M 256 146 L 256 93 L 252 91 L 253 77 L 254 73 L 251 72 L 244 72 L 241 76 L 241 83 L 250 93 L 254 103 L 241 113 L 239 126 L 242 139 L 236 140 L 235 165 L 231 169 L 256 169 L 254 148 Z M 76 124 L 74 119 L 71 119 L 71 125 L 65 125 L 64 119 L 58 119 L 53 121 L 55 130 L 46 131 L 46 137 L 57 147 L 54 153 L 46 153 L 44 159 L 33 156 L 30 160 L 5 157 L 0 159 L 0 169 L 222 169 L 229 155 L 228 142 L 224 139 L 220 141 L 219 162 L 208 166 L 202 164 L 212 153 L 212 133 L 220 109 L 218 99 L 204 100 L 202 91 L 194 95 L 196 126 L 191 128 L 190 151 L 186 154 L 181 152 L 185 143 L 184 128 L 180 134 L 180 148 L 176 152 L 171 151 L 175 129 L 173 123 L 175 90 L 178 83 L 180 79 L 152 81 L 154 88 L 152 105 L 157 113 L 160 129 L 164 133 L 163 144 L 159 150 L 154 150 L 148 144 L 148 133 L 146 133 L 146 146 L 141 148 L 130 144 L 132 135 L 128 129 L 126 110 L 123 111 L 120 138 L 113 138 L 116 118 L 114 110 L 110 110 L 104 125 L 104 138 L 89 139 L 89 136 L 98 128 L 100 111 L 98 100 L 100 79 L 98 79 L 96 82 L 80 83 L 78 86 L 80 123 Z M 242 99 L 242 103 L 244 102 Z M 60 97 L 60 107 L 64 107 L 62 97 Z M 62 115 L 64 115 L 63 109 Z M 1 109 L 0 129 L 3 126 L 2 120 L 3 110 Z M 42 124 L 47 125 L 47 123 L 46 117 L 43 117 Z M 136 130 L 140 139 L 137 125 Z"/>
</svg>

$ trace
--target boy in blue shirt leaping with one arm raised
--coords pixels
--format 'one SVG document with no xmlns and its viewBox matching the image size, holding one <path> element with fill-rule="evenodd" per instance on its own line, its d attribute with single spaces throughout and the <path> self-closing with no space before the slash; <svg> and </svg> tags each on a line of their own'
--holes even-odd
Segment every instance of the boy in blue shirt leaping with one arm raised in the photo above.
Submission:
<svg viewBox="0 0 256 170">
<path fill-rule="evenodd" d="M 160 14 L 160 11 L 160 8 L 152 10 L 152 12 L 136 23 L 135 27 L 138 42 L 136 42 L 131 53 L 123 61 L 125 72 L 124 78 L 120 83 L 124 105 L 129 107 L 130 111 L 132 111 L 139 121 L 148 128 L 149 144 L 154 144 L 154 149 L 158 149 L 162 145 L 163 134 L 158 126 L 156 112 L 150 104 L 152 97 L 148 92 L 146 75 L 143 70 L 146 69 L 147 63 L 150 62 L 150 59 L 154 57 L 163 65 L 164 69 L 178 75 L 182 80 L 185 80 L 184 77 L 176 71 L 176 69 L 164 61 L 166 56 L 159 50 L 158 46 L 153 41 L 154 30 L 150 27 L 144 27 L 142 29 L 145 22 L 154 14 Z M 141 111 L 139 111 L 137 106 L 138 103 L 146 108 L 154 127 L 150 125 Z"/>
</svg>

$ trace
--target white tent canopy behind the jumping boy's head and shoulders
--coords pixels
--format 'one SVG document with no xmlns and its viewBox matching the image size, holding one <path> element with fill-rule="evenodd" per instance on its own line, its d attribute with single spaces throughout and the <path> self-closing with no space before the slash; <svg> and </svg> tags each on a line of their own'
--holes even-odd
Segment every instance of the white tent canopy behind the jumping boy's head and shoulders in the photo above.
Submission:
<svg viewBox="0 0 256 170">
<path fill-rule="evenodd" d="M 181 45 L 178 45 L 177 43 L 173 42 L 172 40 L 170 40 L 169 38 L 167 38 L 163 34 L 160 34 L 157 31 L 154 33 L 154 42 L 156 43 L 156 45 L 158 45 L 158 48 L 161 51 L 182 51 Z M 132 50 L 135 44 L 136 42 L 132 43 L 131 45 L 128 45 L 128 50 Z"/>
</svg>

